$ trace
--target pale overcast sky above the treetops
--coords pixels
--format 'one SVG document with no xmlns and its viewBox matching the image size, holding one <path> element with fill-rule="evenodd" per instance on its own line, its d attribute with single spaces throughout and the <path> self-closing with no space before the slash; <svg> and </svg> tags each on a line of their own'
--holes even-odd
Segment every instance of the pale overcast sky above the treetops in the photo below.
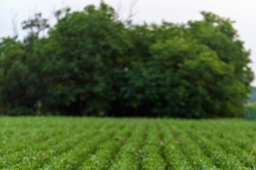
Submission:
<svg viewBox="0 0 256 170">
<path fill-rule="evenodd" d="M 127 14 L 133 0 L 105 0 L 105 3 L 117 8 L 123 7 L 123 17 Z M 0 0 L 0 37 L 14 35 L 12 18 L 16 15 L 19 39 L 26 35 L 20 23 L 41 12 L 43 18 L 54 24 L 53 11 L 69 6 L 72 10 L 81 10 L 87 5 L 98 6 L 100 0 Z M 186 23 L 188 20 L 202 20 L 200 11 L 213 12 L 219 16 L 236 21 L 240 39 L 245 48 L 251 50 L 250 67 L 256 73 L 256 1 L 255 0 L 139 0 L 135 5 L 135 24 L 142 22 L 160 24 L 162 20 L 174 23 Z M 256 86 L 256 80 L 252 83 Z"/>
</svg>

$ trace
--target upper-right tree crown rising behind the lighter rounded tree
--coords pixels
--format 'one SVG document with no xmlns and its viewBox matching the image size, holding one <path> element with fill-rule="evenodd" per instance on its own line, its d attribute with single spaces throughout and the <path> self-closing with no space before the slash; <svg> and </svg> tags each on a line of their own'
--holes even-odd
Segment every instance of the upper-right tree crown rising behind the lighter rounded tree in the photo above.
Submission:
<svg viewBox="0 0 256 170">
<path fill-rule="evenodd" d="M 237 31 L 232 27 L 234 22 L 210 12 L 202 14 L 203 21 L 188 23 L 188 36 L 191 35 L 198 43 L 209 46 L 225 63 L 234 65 L 234 74 L 249 92 L 249 83 L 254 78 L 248 67 L 251 62 L 250 53 L 244 49 L 244 42 L 238 39 Z"/>
</svg>

